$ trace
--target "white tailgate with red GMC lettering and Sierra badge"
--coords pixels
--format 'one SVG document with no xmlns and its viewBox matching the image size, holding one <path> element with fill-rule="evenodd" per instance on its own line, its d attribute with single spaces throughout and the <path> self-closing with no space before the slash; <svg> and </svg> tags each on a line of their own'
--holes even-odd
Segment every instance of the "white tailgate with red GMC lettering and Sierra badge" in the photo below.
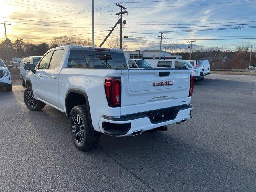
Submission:
<svg viewBox="0 0 256 192">
<path fill-rule="evenodd" d="M 190 70 L 123 70 L 121 78 L 121 115 L 190 103 Z"/>
</svg>

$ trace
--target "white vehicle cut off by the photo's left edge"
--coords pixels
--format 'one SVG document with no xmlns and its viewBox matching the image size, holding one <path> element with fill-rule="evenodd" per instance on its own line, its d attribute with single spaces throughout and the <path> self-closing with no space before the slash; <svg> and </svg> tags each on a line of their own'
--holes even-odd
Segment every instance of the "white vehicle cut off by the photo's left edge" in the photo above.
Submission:
<svg viewBox="0 0 256 192">
<path fill-rule="evenodd" d="M 6 88 L 6 91 L 12 90 L 11 73 L 8 70 L 9 68 L 12 68 L 12 66 L 8 65 L 7 68 L 3 60 L 0 59 L 0 88 Z"/>
</svg>

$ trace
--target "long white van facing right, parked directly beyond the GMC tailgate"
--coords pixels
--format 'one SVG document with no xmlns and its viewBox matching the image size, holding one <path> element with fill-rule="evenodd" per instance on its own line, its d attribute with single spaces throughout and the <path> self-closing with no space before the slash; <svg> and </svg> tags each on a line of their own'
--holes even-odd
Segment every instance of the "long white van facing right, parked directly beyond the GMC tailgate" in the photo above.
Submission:
<svg viewBox="0 0 256 192">
<path fill-rule="evenodd" d="M 194 80 L 204 79 L 204 73 L 199 68 L 195 68 L 190 62 L 181 59 L 166 59 L 166 60 L 148 60 L 152 67 L 157 68 L 176 68 L 176 69 L 190 69 Z"/>
</svg>

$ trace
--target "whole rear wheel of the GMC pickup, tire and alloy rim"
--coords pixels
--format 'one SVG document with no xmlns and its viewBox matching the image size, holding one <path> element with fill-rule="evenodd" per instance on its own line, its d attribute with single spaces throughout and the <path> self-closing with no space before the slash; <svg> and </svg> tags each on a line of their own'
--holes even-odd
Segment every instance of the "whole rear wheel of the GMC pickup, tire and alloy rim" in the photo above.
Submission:
<svg viewBox="0 0 256 192">
<path fill-rule="evenodd" d="M 74 106 L 69 116 L 72 140 L 79 150 L 90 150 L 100 142 L 100 133 L 90 127 L 86 105 Z"/>
</svg>

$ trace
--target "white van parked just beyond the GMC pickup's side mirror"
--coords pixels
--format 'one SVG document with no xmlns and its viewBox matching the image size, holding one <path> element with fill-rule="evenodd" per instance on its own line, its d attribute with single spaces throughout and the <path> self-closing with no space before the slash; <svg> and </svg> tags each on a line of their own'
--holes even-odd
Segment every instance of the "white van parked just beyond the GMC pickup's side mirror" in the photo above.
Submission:
<svg viewBox="0 0 256 192">
<path fill-rule="evenodd" d="M 31 57 L 25 57 L 21 60 L 21 62 L 20 62 L 20 80 L 21 80 L 21 84 L 23 87 L 25 87 L 25 79 L 26 79 L 26 75 L 28 72 L 25 70 L 24 65 L 26 63 L 31 63 L 31 64 L 34 64 L 34 66 L 36 66 L 41 58 L 42 58 L 42 56 L 31 56 Z"/>
</svg>

